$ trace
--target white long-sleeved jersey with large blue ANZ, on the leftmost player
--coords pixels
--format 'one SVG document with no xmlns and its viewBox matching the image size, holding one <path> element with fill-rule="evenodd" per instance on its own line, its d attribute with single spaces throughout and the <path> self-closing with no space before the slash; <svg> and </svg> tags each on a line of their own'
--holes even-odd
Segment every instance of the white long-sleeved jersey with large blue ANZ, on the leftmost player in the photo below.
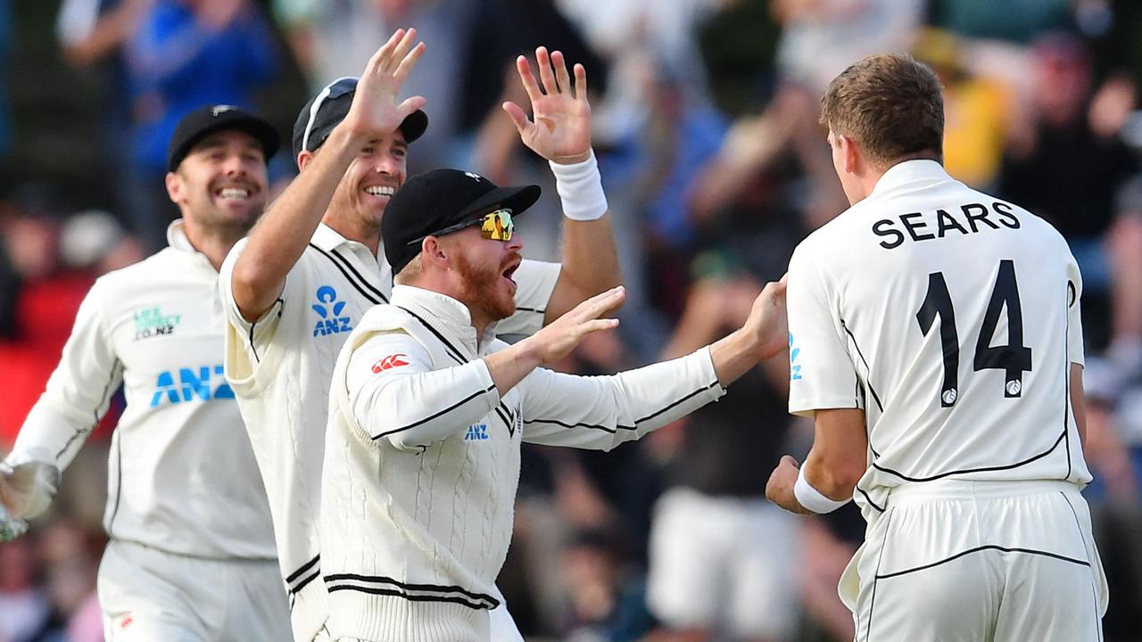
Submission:
<svg viewBox="0 0 1142 642">
<path fill-rule="evenodd" d="M 250 439 L 223 376 L 218 273 L 182 228 L 170 247 L 99 278 L 10 460 L 64 468 L 122 383 L 104 527 L 179 555 L 273 560 L 270 509 Z"/>
</svg>

